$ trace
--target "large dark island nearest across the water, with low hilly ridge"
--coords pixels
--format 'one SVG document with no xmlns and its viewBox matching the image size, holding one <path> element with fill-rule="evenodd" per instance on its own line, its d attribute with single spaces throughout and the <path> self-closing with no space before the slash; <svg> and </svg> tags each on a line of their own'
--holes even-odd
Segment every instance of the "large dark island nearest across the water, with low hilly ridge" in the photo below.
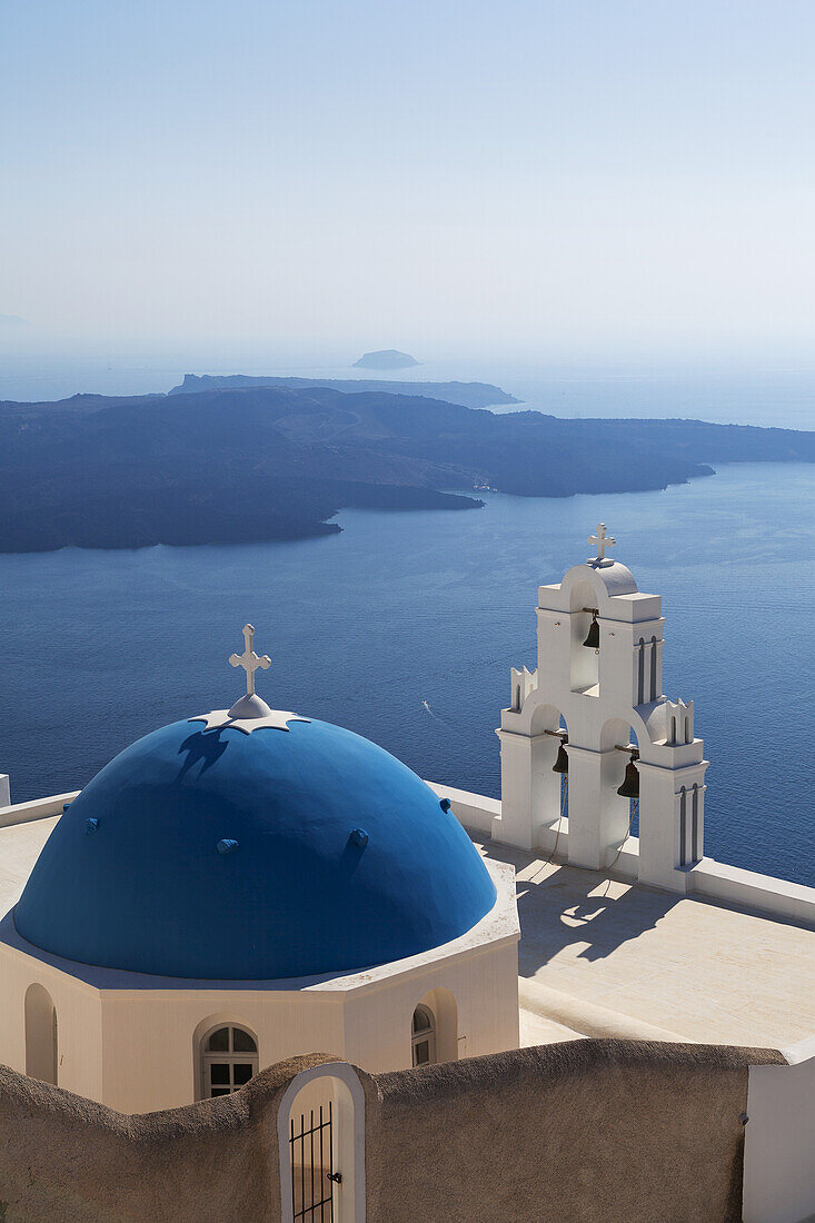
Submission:
<svg viewBox="0 0 815 1223">
<path fill-rule="evenodd" d="M 332 519 L 350 506 L 650 490 L 761 460 L 814 462 L 815 433 L 329 386 L 1 402 L 0 550 L 296 539 L 339 531 Z"/>
</svg>

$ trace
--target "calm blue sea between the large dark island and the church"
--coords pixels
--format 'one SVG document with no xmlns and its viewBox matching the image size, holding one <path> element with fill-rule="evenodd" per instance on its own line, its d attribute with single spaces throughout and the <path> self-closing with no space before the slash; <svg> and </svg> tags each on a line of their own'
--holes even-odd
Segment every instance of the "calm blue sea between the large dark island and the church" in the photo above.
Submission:
<svg viewBox="0 0 815 1223">
<path fill-rule="evenodd" d="M 535 665 L 537 585 L 589 554 L 598 519 L 663 596 L 666 693 L 695 700 L 711 761 L 707 852 L 815 884 L 815 466 L 351 511 L 341 536 L 291 544 L 0 556 L 0 770 L 16 801 L 70 790 L 138 735 L 229 704 L 250 620 L 273 706 L 497 795 L 493 729 L 510 665 Z"/>
</svg>

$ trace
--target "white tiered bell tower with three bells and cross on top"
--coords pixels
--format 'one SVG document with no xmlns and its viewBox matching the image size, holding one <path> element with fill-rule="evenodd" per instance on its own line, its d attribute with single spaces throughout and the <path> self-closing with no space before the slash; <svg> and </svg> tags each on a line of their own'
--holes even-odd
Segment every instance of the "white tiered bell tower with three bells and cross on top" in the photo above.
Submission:
<svg viewBox="0 0 815 1223">
<path fill-rule="evenodd" d="M 568 845 L 573 866 L 603 870 L 630 830 L 630 799 L 617 791 L 625 767 L 639 775 L 639 878 L 689 890 L 704 852 L 705 769 L 693 701 L 662 695 L 662 599 L 642 594 L 631 572 L 606 556 L 616 541 L 605 523 L 589 543 L 596 555 L 557 586 L 538 587 L 537 670 L 512 671 L 502 712 L 502 815 L 493 838 L 551 850 L 562 819 L 560 744 L 568 756 Z M 630 770 L 629 770 L 630 777 Z"/>
</svg>

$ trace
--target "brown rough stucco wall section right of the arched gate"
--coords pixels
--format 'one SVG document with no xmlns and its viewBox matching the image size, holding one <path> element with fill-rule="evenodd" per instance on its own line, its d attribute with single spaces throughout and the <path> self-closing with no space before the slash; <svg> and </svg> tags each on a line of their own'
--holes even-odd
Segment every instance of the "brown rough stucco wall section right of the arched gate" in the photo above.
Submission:
<svg viewBox="0 0 815 1223">
<path fill-rule="evenodd" d="M 748 1066 L 767 1049 L 573 1041 L 378 1075 L 368 1218 L 740 1219 Z"/>
</svg>

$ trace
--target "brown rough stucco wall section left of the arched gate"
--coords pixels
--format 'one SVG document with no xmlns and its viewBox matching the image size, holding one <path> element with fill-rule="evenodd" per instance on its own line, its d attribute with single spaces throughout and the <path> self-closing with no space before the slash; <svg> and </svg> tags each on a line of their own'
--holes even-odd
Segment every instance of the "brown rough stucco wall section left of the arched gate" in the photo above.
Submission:
<svg viewBox="0 0 815 1223">
<path fill-rule="evenodd" d="M 283 1062 L 234 1096 L 135 1117 L 0 1066 L 0 1219 L 272 1223 L 278 1101 L 324 1060 Z"/>
</svg>

